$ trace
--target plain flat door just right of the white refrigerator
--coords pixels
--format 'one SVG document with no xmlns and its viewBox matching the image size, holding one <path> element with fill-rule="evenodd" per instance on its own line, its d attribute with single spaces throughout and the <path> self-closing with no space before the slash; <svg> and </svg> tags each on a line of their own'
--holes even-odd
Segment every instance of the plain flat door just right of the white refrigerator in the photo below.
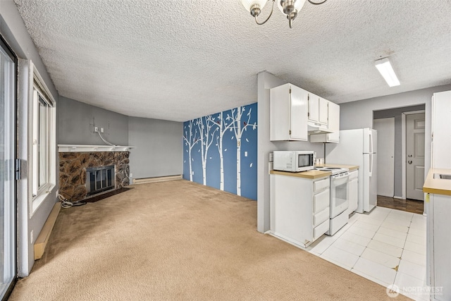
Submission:
<svg viewBox="0 0 451 301">
<path fill-rule="evenodd" d="M 395 118 L 374 119 L 373 128 L 378 131 L 378 195 L 395 195 Z"/>
</svg>

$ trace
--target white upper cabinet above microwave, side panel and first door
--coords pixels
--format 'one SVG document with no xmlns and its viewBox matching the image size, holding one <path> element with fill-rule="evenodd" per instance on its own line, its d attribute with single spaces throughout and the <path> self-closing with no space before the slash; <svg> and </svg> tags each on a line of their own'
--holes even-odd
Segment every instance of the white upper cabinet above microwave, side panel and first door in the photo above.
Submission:
<svg viewBox="0 0 451 301">
<path fill-rule="evenodd" d="M 270 90 L 269 139 L 308 141 L 308 92 L 291 84 Z"/>
</svg>

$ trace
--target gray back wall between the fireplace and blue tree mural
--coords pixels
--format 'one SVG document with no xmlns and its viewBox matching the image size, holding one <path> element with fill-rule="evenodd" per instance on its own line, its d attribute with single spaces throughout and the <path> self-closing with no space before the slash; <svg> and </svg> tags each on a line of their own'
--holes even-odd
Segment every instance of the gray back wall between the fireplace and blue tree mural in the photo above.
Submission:
<svg viewBox="0 0 451 301">
<path fill-rule="evenodd" d="M 183 123 L 130 117 L 128 130 L 133 178 L 183 174 Z"/>
</svg>

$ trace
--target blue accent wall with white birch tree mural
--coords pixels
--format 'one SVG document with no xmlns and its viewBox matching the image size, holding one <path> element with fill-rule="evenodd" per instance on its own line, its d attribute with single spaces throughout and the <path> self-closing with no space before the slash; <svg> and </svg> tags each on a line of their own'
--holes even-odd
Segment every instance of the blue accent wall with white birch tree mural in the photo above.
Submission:
<svg viewBox="0 0 451 301">
<path fill-rule="evenodd" d="M 257 103 L 183 123 L 183 178 L 257 199 Z"/>
</svg>

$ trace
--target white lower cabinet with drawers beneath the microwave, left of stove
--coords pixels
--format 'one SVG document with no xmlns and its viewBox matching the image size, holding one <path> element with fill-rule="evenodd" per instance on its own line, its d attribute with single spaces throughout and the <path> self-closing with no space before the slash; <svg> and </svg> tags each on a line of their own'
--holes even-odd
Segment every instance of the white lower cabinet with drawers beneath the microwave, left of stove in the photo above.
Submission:
<svg viewBox="0 0 451 301">
<path fill-rule="evenodd" d="M 307 247 L 329 230 L 330 180 L 271 174 L 271 233 Z"/>
</svg>

